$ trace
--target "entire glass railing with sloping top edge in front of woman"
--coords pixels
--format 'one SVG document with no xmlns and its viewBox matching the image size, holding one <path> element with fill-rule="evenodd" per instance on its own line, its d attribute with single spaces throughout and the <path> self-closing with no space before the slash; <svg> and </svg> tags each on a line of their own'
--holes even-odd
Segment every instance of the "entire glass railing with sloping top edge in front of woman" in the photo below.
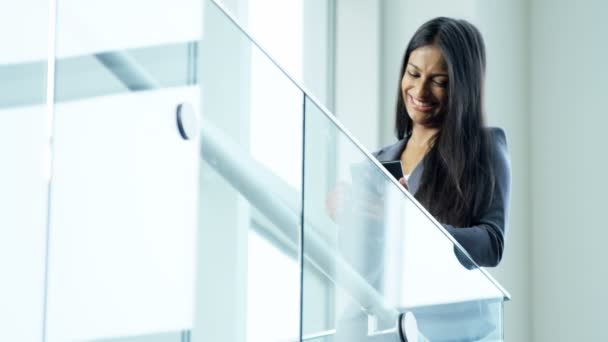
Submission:
<svg viewBox="0 0 608 342">
<path fill-rule="evenodd" d="M 0 66 L 0 339 L 503 339 L 508 294 L 222 5 L 56 5 L 52 99 L 45 52 Z"/>
</svg>

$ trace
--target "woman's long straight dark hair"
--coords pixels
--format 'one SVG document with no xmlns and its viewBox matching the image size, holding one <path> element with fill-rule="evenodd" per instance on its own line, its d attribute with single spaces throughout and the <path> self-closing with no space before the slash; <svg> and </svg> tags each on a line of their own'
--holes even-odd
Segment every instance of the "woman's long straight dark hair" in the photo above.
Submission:
<svg viewBox="0 0 608 342">
<path fill-rule="evenodd" d="M 495 183 L 492 140 L 483 110 L 485 46 L 479 31 L 465 20 L 439 17 L 416 31 L 405 51 L 399 78 L 395 120 L 399 139 L 411 134 L 413 126 L 401 79 L 412 51 L 428 45 L 437 46 L 446 62 L 447 106 L 424 123 L 439 128 L 439 132 L 424 159 L 415 196 L 442 223 L 468 226 L 489 204 Z"/>
</svg>

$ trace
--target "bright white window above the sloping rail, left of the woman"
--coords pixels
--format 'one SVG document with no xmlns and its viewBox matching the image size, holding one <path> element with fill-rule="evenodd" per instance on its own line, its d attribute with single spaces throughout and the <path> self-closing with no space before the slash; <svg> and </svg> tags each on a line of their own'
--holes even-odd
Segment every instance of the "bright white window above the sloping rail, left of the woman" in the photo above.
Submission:
<svg viewBox="0 0 608 342">
<path fill-rule="evenodd" d="M 333 103 L 335 0 L 214 2 L 321 103 Z"/>
</svg>

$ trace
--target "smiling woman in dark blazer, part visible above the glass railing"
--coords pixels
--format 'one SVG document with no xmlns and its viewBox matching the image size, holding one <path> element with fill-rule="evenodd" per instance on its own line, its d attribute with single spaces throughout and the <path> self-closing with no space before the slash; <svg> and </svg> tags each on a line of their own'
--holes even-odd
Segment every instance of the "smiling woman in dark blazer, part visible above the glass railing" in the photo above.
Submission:
<svg viewBox="0 0 608 342">
<path fill-rule="evenodd" d="M 484 123 L 485 47 L 464 20 L 436 18 L 401 66 L 396 132 L 379 161 L 401 160 L 408 187 L 479 266 L 504 251 L 510 163 L 504 132 Z M 461 258 L 462 259 L 462 258 Z"/>
</svg>

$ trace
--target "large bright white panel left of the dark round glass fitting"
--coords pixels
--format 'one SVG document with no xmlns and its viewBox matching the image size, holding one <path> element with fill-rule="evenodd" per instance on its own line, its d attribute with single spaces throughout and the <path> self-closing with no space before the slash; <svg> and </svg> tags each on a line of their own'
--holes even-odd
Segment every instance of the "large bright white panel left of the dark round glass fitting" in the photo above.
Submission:
<svg viewBox="0 0 608 342">
<path fill-rule="evenodd" d="M 185 87 L 55 106 L 49 340 L 191 327 L 198 143 L 180 137 L 175 108 L 198 96 Z"/>
</svg>

